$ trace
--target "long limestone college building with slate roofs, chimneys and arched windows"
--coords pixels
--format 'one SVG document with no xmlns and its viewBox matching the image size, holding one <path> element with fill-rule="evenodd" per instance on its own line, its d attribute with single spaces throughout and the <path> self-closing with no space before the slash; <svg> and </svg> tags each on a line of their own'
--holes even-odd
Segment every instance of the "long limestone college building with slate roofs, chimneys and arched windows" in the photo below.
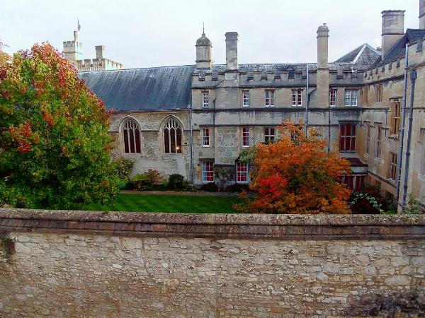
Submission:
<svg viewBox="0 0 425 318">
<path fill-rule="evenodd" d="M 344 182 L 352 189 L 368 181 L 389 199 L 424 196 L 425 0 L 419 3 L 418 29 L 404 31 L 404 11 L 382 11 L 382 49 L 363 44 L 334 62 L 329 28 L 320 25 L 314 63 L 239 64 L 239 35 L 227 32 L 226 64 L 212 64 L 203 33 L 196 64 L 79 76 L 115 109 L 113 156 L 135 159 L 133 174 L 156 169 L 198 185 L 249 182 L 239 153 L 273 141 L 275 127 L 292 119 L 322 129 L 329 150 L 350 160 Z"/>
</svg>

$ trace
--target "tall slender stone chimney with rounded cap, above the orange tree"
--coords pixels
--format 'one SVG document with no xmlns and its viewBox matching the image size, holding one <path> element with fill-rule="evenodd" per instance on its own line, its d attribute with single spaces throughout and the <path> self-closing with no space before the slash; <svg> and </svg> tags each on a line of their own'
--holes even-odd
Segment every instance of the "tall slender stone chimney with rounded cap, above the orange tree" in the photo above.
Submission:
<svg viewBox="0 0 425 318">
<path fill-rule="evenodd" d="M 329 28 L 326 23 L 317 29 L 317 107 L 329 107 L 328 69 Z"/>
</svg>

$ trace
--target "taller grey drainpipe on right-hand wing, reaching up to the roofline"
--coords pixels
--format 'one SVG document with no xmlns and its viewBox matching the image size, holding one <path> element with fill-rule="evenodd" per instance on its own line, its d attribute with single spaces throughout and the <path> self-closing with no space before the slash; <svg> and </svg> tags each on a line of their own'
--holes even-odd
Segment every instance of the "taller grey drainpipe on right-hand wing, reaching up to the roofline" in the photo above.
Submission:
<svg viewBox="0 0 425 318">
<path fill-rule="evenodd" d="M 404 121 L 406 119 L 406 99 L 407 99 L 407 72 L 409 67 L 409 46 L 406 45 L 406 54 L 404 55 L 404 83 L 403 83 L 403 99 L 402 99 L 402 131 L 400 132 L 399 151 L 397 153 L 397 187 L 395 190 L 395 210 L 398 213 L 398 207 L 402 206 L 399 203 L 400 183 L 402 179 L 402 160 L 403 160 L 403 144 L 404 144 Z"/>
</svg>

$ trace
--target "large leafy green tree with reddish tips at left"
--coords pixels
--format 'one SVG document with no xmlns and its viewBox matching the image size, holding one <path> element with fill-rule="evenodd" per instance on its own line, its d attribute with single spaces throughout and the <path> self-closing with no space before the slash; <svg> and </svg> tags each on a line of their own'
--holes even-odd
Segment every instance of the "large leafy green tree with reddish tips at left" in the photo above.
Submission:
<svg viewBox="0 0 425 318">
<path fill-rule="evenodd" d="M 110 113 L 55 48 L 0 60 L 0 206 L 110 204 L 123 180 L 111 162 Z"/>
</svg>

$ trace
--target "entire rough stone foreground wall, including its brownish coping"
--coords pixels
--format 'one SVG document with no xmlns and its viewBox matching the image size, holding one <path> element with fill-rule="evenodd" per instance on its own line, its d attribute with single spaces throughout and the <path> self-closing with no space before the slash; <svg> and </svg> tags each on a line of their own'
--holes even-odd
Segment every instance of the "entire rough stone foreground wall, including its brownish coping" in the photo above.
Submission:
<svg viewBox="0 0 425 318">
<path fill-rule="evenodd" d="M 0 209 L 0 316 L 421 317 L 424 225 Z"/>
</svg>

